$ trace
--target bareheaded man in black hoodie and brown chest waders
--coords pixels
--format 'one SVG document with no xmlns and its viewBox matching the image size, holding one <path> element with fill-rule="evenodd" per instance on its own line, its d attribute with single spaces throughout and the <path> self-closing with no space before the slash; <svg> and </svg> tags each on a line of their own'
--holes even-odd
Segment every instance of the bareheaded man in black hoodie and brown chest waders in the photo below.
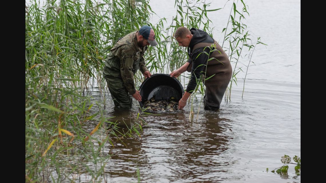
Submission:
<svg viewBox="0 0 326 183">
<path fill-rule="evenodd" d="M 188 61 L 179 69 L 170 73 L 171 77 L 178 77 L 181 73 L 191 71 L 185 94 L 179 100 L 178 109 L 183 109 L 190 94 L 197 86 L 196 80 L 202 77 L 206 89 L 204 95 L 204 109 L 216 110 L 220 108 L 223 95 L 228 87 L 232 76 L 232 67 L 228 55 L 221 46 L 205 31 L 185 27 L 179 27 L 174 33 L 179 46 L 188 47 Z M 211 45 L 214 44 L 217 50 L 210 52 Z M 215 49 L 215 48 L 214 48 Z M 209 53 L 209 56 L 205 53 Z M 213 58 L 212 60 L 209 60 Z M 208 61 L 209 60 L 209 61 Z M 213 76 L 214 75 L 214 76 Z M 213 77 L 211 77 L 213 76 Z M 211 77 L 207 80 L 206 78 Z M 197 79 L 196 79 L 197 78 Z"/>
</svg>

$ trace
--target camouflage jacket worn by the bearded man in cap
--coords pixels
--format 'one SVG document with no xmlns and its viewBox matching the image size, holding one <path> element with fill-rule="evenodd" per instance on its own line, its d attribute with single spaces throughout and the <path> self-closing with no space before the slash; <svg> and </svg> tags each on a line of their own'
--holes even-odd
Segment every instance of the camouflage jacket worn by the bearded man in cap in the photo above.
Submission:
<svg viewBox="0 0 326 183">
<path fill-rule="evenodd" d="M 143 57 L 147 46 L 138 46 L 136 33 L 137 31 L 125 35 L 113 46 L 103 69 L 104 76 L 122 79 L 130 95 L 136 92 L 134 83 L 136 71 L 138 69 L 141 73 L 148 71 Z"/>
</svg>

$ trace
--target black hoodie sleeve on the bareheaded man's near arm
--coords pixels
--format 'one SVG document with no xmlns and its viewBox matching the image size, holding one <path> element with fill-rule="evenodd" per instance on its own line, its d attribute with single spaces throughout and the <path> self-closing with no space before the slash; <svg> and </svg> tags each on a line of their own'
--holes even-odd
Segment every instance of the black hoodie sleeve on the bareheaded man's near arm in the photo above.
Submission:
<svg viewBox="0 0 326 183">
<path fill-rule="evenodd" d="M 206 48 L 208 49 L 208 48 Z M 191 68 L 191 77 L 188 82 L 187 88 L 185 91 L 188 93 L 192 93 L 196 86 L 198 81 L 201 79 L 200 76 L 204 74 L 204 68 L 207 64 L 208 55 L 203 53 L 204 48 L 199 48 L 193 51 L 191 55 L 191 61 L 192 61 L 192 68 Z M 205 50 L 207 53 L 209 53 L 209 49 Z"/>
</svg>

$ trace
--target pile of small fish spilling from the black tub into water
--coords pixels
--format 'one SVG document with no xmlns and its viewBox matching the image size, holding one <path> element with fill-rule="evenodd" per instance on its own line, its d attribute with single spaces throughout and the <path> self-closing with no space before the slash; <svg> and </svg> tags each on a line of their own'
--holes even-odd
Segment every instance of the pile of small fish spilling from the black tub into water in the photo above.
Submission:
<svg viewBox="0 0 326 183">
<path fill-rule="evenodd" d="M 175 97 L 167 100 L 155 100 L 153 97 L 144 102 L 144 108 L 152 111 L 175 111 L 178 109 L 178 101 Z"/>
</svg>

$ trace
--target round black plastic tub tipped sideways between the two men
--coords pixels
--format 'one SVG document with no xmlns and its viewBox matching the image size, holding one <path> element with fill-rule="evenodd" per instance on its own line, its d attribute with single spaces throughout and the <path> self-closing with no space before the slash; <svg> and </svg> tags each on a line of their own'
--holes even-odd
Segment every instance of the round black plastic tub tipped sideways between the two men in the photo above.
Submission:
<svg viewBox="0 0 326 183">
<path fill-rule="evenodd" d="M 139 88 L 141 95 L 141 102 L 139 104 L 143 107 L 146 100 L 155 98 L 155 100 L 166 100 L 175 97 L 178 101 L 184 94 L 184 89 L 178 79 L 170 77 L 169 74 L 153 74 L 147 77 Z"/>
</svg>

